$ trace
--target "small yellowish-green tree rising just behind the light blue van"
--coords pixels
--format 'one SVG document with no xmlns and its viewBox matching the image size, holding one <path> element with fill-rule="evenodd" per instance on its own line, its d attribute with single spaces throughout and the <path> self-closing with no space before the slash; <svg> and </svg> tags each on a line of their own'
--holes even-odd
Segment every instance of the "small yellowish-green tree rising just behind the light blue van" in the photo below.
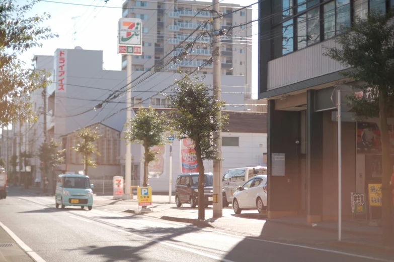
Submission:
<svg viewBox="0 0 394 262">
<path fill-rule="evenodd" d="M 88 127 L 82 128 L 78 131 L 80 141 L 76 147 L 72 147 L 75 152 L 82 156 L 82 164 L 84 164 L 84 174 L 88 175 L 88 167 L 96 168 L 96 162 L 92 155 L 101 156 L 97 149 L 96 141 L 101 137 L 98 134 L 98 128 L 91 129 Z"/>
</svg>

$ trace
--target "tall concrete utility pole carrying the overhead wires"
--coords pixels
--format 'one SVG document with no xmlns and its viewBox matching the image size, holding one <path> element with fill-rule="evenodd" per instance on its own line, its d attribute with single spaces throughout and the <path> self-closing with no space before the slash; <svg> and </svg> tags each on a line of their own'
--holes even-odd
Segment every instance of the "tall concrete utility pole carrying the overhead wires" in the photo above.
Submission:
<svg viewBox="0 0 394 262">
<path fill-rule="evenodd" d="M 213 16 L 219 16 L 219 0 L 212 0 L 212 11 Z M 216 11 L 216 12 L 215 12 Z M 220 18 L 213 20 L 213 30 L 220 30 Z M 212 37 L 212 60 L 213 60 L 213 95 L 216 99 L 220 100 L 221 97 L 221 63 L 220 63 L 220 35 Z M 217 117 L 221 117 L 221 111 L 219 111 Z M 213 160 L 213 195 L 217 196 L 213 198 L 213 217 L 221 217 L 223 209 L 223 197 L 222 197 L 222 183 L 221 183 L 221 131 L 213 135 L 213 138 L 217 141 L 216 159 Z M 217 201 L 215 201 L 217 200 Z"/>
</svg>

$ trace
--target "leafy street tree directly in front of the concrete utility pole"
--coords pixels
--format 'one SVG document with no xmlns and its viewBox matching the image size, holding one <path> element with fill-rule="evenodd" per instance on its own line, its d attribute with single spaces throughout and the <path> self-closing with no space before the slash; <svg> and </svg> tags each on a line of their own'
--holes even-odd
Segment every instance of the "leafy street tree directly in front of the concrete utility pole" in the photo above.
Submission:
<svg viewBox="0 0 394 262">
<path fill-rule="evenodd" d="M 224 101 L 212 95 L 205 82 L 197 75 L 184 74 L 176 81 L 174 94 L 168 95 L 171 107 L 177 109 L 169 113 L 169 126 L 178 139 L 190 138 L 195 143 L 198 166 L 198 219 L 205 219 L 203 160 L 215 159 L 217 150 L 212 134 L 224 128 L 228 115 L 217 118 Z M 214 121 L 213 119 L 216 119 Z"/>
</svg>

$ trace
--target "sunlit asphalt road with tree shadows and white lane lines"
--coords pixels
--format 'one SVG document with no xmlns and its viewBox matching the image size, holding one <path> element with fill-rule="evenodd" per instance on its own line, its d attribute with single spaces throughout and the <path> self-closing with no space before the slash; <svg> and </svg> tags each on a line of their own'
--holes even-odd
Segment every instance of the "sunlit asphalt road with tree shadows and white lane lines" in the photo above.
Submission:
<svg viewBox="0 0 394 262">
<path fill-rule="evenodd" d="M 13 189 L 0 221 L 45 261 L 388 261 L 93 208 L 56 209 Z"/>
</svg>

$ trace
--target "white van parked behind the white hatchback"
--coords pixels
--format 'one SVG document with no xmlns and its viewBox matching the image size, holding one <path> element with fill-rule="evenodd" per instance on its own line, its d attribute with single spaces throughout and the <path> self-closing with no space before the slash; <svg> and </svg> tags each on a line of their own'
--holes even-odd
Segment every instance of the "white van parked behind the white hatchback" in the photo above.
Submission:
<svg viewBox="0 0 394 262">
<path fill-rule="evenodd" d="M 237 191 L 239 186 L 257 175 L 267 175 L 267 167 L 256 166 L 227 170 L 222 179 L 227 203 L 232 203 L 234 192 Z"/>
</svg>

